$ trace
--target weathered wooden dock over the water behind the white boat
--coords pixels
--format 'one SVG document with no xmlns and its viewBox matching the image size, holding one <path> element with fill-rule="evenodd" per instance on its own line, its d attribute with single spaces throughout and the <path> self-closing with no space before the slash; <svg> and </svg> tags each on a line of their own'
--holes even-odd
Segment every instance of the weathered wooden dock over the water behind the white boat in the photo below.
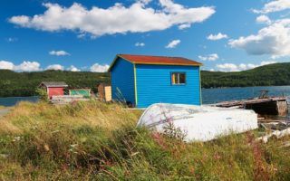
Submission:
<svg viewBox="0 0 290 181">
<path fill-rule="evenodd" d="M 256 98 L 251 100 L 224 101 L 213 106 L 222 108 L 240 108 L 255 110 L 261 115 L 285 115 L 288 112 L 287 100 L 285 97 Z"/>
</svg>

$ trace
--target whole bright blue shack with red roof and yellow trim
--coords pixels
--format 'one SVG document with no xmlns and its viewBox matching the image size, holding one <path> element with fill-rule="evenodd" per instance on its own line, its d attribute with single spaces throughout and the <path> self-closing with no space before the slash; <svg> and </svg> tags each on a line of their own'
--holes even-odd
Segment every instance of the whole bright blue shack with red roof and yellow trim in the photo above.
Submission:
<svg viewBox="0 0 290 181">
<path fill-rule="evenodd" d="M 181 57 L 118 54 L 109 68 L 112 99 L 136 108 L 161 102 L 200 105 L 201 65 Z"/>
</svg>

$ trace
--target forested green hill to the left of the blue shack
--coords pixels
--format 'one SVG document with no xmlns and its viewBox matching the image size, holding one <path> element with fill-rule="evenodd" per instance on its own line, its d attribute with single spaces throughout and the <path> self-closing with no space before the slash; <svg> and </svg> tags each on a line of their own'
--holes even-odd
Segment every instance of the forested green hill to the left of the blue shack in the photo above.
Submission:
<svg viewBox="0 0 290 181">
<path fill-rule="evenodd" d="M 108 73 L 73 71 L 14 72 L 0 70 L 0 97 L 33 96 L 42 81 L 65 81 L 72 88 L 92 88 L 102 81 L 110 81 Z"/>
</svg>

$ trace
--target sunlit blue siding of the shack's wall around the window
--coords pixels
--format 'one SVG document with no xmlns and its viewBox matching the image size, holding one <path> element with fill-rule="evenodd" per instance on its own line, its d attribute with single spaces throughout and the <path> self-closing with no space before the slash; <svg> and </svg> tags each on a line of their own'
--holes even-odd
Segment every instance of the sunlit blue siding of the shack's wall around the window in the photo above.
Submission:
<svg viewBox="0 0 290 181">
<path fill-rule="evenodd" d="M 185 72 L 185 85 L 171 85 L 172 72 Z M 138 108 L 153 103 L 200 105 L 198 66 L 136 65 Z"/>
</svg>

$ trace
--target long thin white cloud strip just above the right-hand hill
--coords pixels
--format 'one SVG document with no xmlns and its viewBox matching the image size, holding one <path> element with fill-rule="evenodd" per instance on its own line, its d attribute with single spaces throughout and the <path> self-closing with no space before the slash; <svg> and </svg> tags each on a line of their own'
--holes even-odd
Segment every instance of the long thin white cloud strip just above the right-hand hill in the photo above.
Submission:
<svg viewBox="0 0 290 181">
<path fill-rule="evenodd" d="M 260 64 L 253 64 L 253 63 L 240 63 L 240 64 L 234 64 L 234 63 L 223 63 L 223 64 L 217 64 L 218 71 L 246 71 L 249 69 L 254 69 L 259 66 L 267 65 L 275 63 L 274 61 L 264 61 L 260 62 Z"/>
</svg>

